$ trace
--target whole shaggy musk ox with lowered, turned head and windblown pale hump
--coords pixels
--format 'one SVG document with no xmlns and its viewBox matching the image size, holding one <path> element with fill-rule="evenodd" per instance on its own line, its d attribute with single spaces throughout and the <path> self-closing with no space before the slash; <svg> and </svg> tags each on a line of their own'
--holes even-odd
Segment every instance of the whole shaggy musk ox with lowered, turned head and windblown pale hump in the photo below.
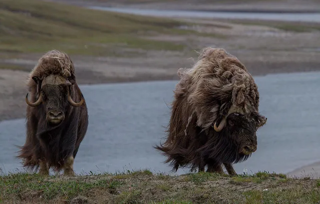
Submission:
<svg viewBox="0 0 320 204">
<path fill-rule="evenodd" d="M 257 149 L 256 131 L 266 123 L 258 113 L 259 92 L 252 76 L 234 56 L 205 48 L 191 69 L 179 69 L 168 136 L 156 146 L 172 171 L 179 167 L 236 175 L 232 164 Z"/>
</svg>

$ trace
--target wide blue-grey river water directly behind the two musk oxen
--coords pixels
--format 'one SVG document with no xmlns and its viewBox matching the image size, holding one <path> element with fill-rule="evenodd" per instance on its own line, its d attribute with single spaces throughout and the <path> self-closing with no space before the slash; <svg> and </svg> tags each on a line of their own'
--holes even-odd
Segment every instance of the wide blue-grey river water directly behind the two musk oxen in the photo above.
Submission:
<svg viewBox="0 0 320 204">
<path fill-rule="evenodd" d="M 254 77 L 260 112 L 268 120 L 257 133 L 258 149 L 235 164 L 237 173 L 288 173 L 320 160 L 320 72 Z M 152 146 L 165 136 L 177 81 L 81 86 L 89 109 L 89 129 L 75 159 L 76 173 L 171 168 Z M 23 100 L 23 97 L 22 97 Z M 21 170 L 15 158 L 25 141 L 25 119 L 0 122 L 0 168 Z M 187 173 L 188 169 L 177 174 Z"/>
</svg>

